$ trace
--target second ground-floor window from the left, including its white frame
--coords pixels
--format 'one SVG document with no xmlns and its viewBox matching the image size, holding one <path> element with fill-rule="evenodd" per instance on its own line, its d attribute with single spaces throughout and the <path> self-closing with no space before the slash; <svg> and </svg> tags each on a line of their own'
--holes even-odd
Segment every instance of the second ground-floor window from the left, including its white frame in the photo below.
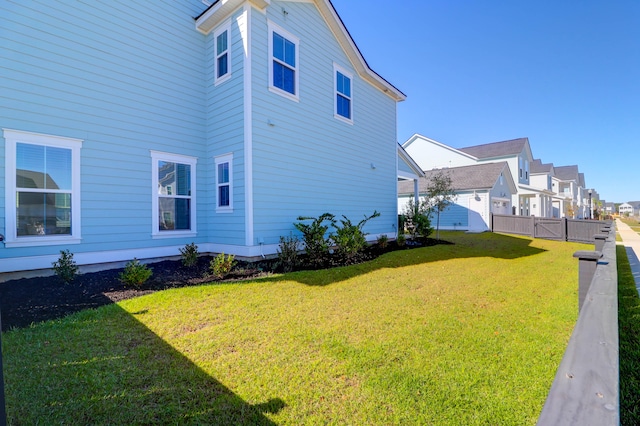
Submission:
<svg viewBox="0 0 640 426">
<path fill-rule="evenodd" d="M 151 151 L 153 231 L 156 238 L 196 232 L 196 158 Z"/>
</svg>

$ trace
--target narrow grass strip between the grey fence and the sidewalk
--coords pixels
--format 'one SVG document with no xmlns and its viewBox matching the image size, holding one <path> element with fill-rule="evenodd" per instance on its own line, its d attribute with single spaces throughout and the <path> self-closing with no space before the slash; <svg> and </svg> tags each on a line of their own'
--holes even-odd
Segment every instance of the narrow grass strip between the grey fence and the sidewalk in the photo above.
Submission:
<svg viewBox="0 0 640 426">
<path fill-rule="evenodd" d="M 640 424 L 640 299 L 626 249 L 617 246 L 620 424 Z"/>
</svg>

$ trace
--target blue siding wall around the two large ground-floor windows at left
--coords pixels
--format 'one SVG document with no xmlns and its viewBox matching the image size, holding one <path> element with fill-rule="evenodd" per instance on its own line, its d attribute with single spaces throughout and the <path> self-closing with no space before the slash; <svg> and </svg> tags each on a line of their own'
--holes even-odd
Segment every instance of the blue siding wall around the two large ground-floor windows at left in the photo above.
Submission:
<svg viewBox="0 0 640 426">
<path fill-rule="evenodd" d="M 205 36 L 193 22 L 202 10 L 198 0 L 0 3 L 0 128 L 84 140 L 82 244 L 73 252 L 100 261 L 106 251 L 194 240 L 151 238 L 150 150 L 197 157 L 196 178 L 207 180 Z M 197 199 L 208 191 L 199 189 Z M 207 203 L 197 206 L 198 228 L 206 231 Z M 64 248 L 0 247 L 0 259 Z"/>
</svg>

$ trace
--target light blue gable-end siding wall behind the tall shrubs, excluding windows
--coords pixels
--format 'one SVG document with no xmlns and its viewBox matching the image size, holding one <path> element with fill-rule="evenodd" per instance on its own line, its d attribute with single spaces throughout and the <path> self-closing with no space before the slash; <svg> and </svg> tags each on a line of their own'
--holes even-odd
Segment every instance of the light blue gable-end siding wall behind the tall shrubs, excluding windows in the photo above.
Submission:
<svg viewBox="0 0 640 426">
<path fill-rule="evenodd" d="M 299 102 L 268 90 L 268 20 L 300 39 Z M 357 223 L 377 210 L 365 231 L 395 235 L 395 101 L 357 75 L 312 3 L 274 1 L 252 22 L 252 243 L 275 251 L 298 216 L 325 212 Z M 353 124 L 334 118 L 334 62 L 353 74 Z"/>
</svg>

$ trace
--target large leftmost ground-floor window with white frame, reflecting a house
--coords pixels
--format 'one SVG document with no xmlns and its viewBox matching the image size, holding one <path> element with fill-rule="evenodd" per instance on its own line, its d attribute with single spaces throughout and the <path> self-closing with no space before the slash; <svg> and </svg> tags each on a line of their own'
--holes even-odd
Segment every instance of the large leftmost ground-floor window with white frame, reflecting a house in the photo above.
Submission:
<svg viewBox="0 0 640 426">
<path fill-rule="evenodd" d="M 82 140 L 5 129 L 6 247 L 80 243 Z"/>
</svg>

